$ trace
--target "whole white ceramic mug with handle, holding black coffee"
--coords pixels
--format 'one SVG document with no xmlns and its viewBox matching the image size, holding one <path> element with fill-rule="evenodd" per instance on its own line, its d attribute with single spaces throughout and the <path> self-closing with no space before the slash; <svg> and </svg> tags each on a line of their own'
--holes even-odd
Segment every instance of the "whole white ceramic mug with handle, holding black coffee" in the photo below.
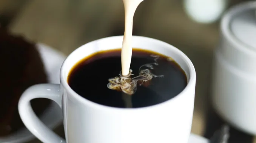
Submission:
<svg viewBox="0 0 256 143">
<path fill-rule="evenodd" d="M 73 51 L 60 70 L 59 84 L 29 87 L 19 101 L 25 126 L 44 143 L 187 143 L 194 108 L 196 72 L 182 51 L 165 42 L 133 36 L 133 47 L 172 57 L 185 71 L 188 84 L 174 98 L 142 108 L 114 108 L 91 102 L 67 83 L 70 69 L 84 57 L 122 47 L 123 36 L 89 42 Z M 100 89 L 99 89 L 100 90 Z M 47 128 L 32 111 L 30 101 L 48 98 L 60 105 L 66 141 Z"/>
</svg>

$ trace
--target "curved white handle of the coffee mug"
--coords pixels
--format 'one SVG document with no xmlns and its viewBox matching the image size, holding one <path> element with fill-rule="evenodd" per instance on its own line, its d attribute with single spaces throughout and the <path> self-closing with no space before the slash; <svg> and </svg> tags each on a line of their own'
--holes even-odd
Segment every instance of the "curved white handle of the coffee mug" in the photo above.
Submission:
<svg viewBox="0 0 256 143">
<path fill-rule="evenodd" d="M 20 117 L 32 134 L 43 143 L 66 143 L 59 135 L 49 129 L 34 113 L 30 101 L 35 98 L 48 98 L 62 107 L 60 84 L 36 84 L 23 92 L 19 100 Z"/>
</svg>

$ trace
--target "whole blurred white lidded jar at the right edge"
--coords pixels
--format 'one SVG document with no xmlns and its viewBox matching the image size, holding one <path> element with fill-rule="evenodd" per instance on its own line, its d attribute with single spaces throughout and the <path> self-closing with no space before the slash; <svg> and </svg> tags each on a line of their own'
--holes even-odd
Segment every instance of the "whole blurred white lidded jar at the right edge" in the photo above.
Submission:
<svg viewBox="0 0 256 143">
<path fill-rule="evenodd" d="M 256 2 L 242 3 L 222 18 L 212 84 L 212 103 L 217 113 L 237 129 L 254 135 L 256 33 L 251 32 L 256 28 L 255 9 Z"/>
</svg>

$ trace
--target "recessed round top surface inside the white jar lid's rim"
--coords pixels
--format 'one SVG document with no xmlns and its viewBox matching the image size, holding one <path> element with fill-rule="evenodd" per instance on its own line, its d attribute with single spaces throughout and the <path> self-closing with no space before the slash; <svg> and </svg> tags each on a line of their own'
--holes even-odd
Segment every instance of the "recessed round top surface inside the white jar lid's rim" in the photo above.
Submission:
<svg viewBox="0 0 256 143">
<path fill-rule="evenodd" d="M 251 50 L 256 50 L 255 12 L 256 9 L 247 9 L 234 15 L 230 21 L 230 31 L 233 36 Z"/>
</svg>

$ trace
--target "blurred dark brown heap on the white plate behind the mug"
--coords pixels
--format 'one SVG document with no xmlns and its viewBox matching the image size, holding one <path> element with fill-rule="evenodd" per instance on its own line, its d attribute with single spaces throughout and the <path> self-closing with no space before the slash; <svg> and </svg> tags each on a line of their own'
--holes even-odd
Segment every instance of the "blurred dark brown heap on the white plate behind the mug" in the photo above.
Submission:
<svg viewBox="0 0 256 143">
<path fill-rule="evenodd" d="M 22 93 L 34 84 L 47 83 L 42 59 L 35 44 L 0 27 L 0 137 L 23 127 L 18 113 Z M 47 99 L 31 102 L 36 114 L 49 105 Z"/>
</svg>

